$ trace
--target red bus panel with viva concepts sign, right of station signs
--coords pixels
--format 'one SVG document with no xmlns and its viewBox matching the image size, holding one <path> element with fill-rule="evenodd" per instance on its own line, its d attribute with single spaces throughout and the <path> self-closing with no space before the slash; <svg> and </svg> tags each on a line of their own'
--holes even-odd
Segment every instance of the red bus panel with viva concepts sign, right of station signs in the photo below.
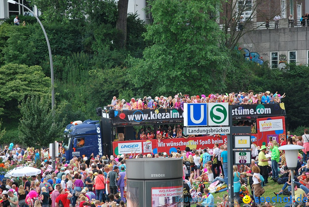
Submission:
<svg viewBox="0 0 309 207">
<path fill-rule="evenodd" d="M 280 143 L 280 139 L 286 139 L 286 123 L 284 116 L 256 119 L 257 141 L 259 146 L 267 145 L 268 137 Z"/>
</svg>

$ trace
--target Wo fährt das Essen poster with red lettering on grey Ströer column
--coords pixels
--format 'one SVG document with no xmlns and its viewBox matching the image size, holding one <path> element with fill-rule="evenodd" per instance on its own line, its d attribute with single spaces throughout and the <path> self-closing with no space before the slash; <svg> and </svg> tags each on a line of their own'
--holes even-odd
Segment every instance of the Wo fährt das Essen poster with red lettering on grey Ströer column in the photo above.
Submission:
<svg viewBox="0 0 309 207">
<path fill-rule="evenodd" d="M 151 188 L 151 207 L 181 205 L 183 186 Z"/>
</svg>

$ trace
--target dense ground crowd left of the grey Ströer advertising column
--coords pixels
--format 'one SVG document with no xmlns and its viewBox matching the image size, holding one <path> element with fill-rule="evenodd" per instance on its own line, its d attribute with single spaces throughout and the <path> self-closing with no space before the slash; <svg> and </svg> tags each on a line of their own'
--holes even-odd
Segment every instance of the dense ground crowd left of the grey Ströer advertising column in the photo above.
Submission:
<svg viewBox="0 0 309 207">
<path fill-rule="evenodd" d="M 11 146 L 10 146 L 11 147 Z M 61 153 L 59 153 L 61 155 Z M 129 158 L 129 157 L 126 157 Z M 0 167 L 32 166 L 41 170 L 30 177 L 0 177 L 1 207 L 125 207 L 124 155 L 58 157 L 53 170 L 48 149 L 4 147 Z"/>
</svg>

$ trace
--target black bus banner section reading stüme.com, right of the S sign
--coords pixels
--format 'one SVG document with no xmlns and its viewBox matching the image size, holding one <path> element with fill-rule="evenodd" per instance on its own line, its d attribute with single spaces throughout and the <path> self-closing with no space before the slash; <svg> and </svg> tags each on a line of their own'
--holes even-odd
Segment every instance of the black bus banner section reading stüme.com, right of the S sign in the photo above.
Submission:
<svg viewBox="0 0 309 207">
<path fill-rule="evenodd" d="M 271 117 L 285 116 L 284 103 L 277 104 L 253 104 L 253 105 L 233 105 L 232 117 Z"/>
</svg>

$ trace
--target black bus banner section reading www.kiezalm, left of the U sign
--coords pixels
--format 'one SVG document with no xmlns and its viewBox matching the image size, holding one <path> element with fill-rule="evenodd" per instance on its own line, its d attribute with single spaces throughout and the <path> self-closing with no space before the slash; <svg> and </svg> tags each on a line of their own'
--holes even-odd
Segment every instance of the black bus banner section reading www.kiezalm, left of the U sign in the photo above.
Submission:
<svg viewBox="0 0 309 207">
<path fill-rule="evenodd" d="M 145 123 L 160 121 L 184 121 L 184 111 L 179 109 L 144 109 L 114 111 L 112 123 Z"/>
</svg>

